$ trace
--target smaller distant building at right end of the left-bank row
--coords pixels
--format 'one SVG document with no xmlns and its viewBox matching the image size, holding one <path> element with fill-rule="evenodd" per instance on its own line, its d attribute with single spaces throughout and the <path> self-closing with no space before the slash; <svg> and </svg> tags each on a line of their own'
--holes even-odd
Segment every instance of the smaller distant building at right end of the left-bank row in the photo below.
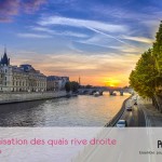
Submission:
<svg viewBox="0 0 162 162">
<path fill-rule="evenodd" d="M 65 84 L 68 81 L 69 77 L 49 76 L 46 81 L 46 90 L 48 91 L 65 90 Z"/>
</svg>

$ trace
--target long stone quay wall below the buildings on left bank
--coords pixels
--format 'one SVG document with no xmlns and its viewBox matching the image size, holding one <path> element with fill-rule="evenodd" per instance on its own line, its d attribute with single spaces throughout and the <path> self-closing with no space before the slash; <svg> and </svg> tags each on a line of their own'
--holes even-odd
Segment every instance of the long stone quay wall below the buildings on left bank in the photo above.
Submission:
<svg viewBox="0 0 162 162">
<path fill-rule="evenodd" d="M 65 97 L 66 91 L 59 92 L 32 92 L 32 93 L 0 93 L 0 104 L 31 102 Z"/>
</svg>

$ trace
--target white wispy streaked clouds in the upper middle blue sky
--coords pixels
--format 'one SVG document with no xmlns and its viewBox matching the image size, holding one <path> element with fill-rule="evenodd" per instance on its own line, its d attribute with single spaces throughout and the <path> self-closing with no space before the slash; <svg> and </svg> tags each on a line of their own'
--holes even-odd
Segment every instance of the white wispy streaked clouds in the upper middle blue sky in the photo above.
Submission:
<svg viewBox="0 0 162 162">
<path fill-rule="evenodd" d="M 107 22 L 98 22 L 98 21 L 90 21 L 90 19 L 79 19 L 79 18 L 69 18 L 69 17 L 60 17 L 60 16 L 50 16 L 42 18 L 40 22 L 38 22 L 41 26 L 69 26 L 69 27 L 76 27 L 78 29 L 85 28 L 87 30 L 93 31 L 94 33 L 102 35 L 106 39 L 114 40 L 116 42 L 120 42 L 123 44 L 126 44 L 131 48 L 133 45 L 130 45 L 129 43 L 124 42 L 123 40 L 119 39 L 116 35 L 118 33 L 124 33 L 129 32 L 129 28 L 126 25 L 117 25 L 117 24 L 110 24 Z M 42 28 L 41 28 L 42 29 Z M 46 30 L 50 31 L 51 30 Z M 59 33 L 59 31 L 58 31 Z M 71 31 L 62 32 L 64 36 L 73 36 L 73 37 L 82 37 L 82 33 L 75 33 Z M 60 35 L 62 35 L 60 33 Z M 110 35 L 109 35 L 110 33 Z M 83 38 L 83 37 L 82 37 Z M 89 37 L 91 39 L 91 36 Z M 89 39 L 87 38 L 87 39 Z M 106 45 L 100 45 L 100 43 L 96 44 L 93 43 L 92 40 L 82 40 L 80 42 L 86 43 L 86 44 L 94 44 L 105 48 Z M 79 42 L 79 40 L 77 40 Z"/>
</svg>

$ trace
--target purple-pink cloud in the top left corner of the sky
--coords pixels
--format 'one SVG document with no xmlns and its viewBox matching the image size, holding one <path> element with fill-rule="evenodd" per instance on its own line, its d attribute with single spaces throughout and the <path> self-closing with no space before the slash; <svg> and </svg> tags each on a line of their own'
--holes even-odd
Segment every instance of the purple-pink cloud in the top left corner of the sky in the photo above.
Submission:
<svg viewBox="0 0 162 162">
<path fill-rule="evenodd" d="M 2 0 L 0 2 L 0 22 L 12 22 L 13 16 L 21 11 L 25 13 L 32 13 L 37 11 L 40 5 L 44 4 L 46 0 Z"/>
</svg>

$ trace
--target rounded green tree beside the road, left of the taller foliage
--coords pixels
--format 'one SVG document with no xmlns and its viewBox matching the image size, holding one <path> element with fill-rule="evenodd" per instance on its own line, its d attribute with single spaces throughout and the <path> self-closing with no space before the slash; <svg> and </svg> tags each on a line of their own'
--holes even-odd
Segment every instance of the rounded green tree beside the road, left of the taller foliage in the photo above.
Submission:
<svg viewBox="0 0 162 162">
<path fill-rule="evenodd" d="M 152 97 L 156 92 L 156 77 L 158 70 L 154 66 L 152 50 L 148 50 L 136 64 L 130 75 L 130 84 L 143 97 Z"/>
</svg>

